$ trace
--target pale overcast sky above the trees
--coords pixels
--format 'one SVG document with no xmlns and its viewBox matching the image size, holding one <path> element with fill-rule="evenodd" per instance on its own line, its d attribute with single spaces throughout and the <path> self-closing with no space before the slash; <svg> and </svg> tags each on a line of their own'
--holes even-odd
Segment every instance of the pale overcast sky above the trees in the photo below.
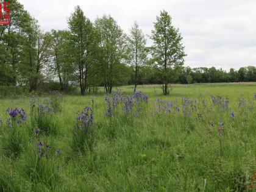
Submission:
<svg viewBox="0 0 256 192">
<path fill-rule="evenodd" d="M 179 27 L 185 46 L 185 66 L 215 66 L 229 70 L 256 66 L 255 0 L 20 0 L 44 31 L 67 29 L 66 18 L 80 5 L 94 21 L 110 14 L 124 32 L 134 21 L 151 34 L 156 16 L 165 9 Z M 150 44 L 151 41 L 148 40 Z"/>
</svg>

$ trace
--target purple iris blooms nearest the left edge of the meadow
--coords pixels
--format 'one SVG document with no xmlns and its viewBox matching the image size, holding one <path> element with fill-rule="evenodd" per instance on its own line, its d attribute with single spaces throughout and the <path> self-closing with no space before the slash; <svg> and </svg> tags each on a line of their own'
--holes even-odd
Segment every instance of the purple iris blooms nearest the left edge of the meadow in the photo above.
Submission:
<svg viewBox="0 0 256 192">
<path fill-rule="evenodd" d="M 9 113 L 10 118 L 6 120 L 7 124 L 10 126 L 13 125 L 13 123 L 21 124 L 22 121 L 25 121 L 27 119 L 26 112 L 23 108 L 19 109 L 16 107 L 15 109 L 7 108 L 6 111 Z"/>
</svg>

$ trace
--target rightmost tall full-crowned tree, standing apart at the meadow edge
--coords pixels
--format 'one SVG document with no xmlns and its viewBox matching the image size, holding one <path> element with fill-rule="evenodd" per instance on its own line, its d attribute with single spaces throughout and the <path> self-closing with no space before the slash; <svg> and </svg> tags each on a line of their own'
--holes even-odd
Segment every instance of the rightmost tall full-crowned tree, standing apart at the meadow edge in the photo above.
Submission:
<svg viewBox="0 0 256 192">
<path fill-rule="evenodd" d="M 174 74 L 183 65 L 183 57 L 186 54 L 181 43 L 182 37 L 179 29 L 175 29 L 172 26 L 171 16 L 165 10 L 160 13 L 160 16 L 157 16 L 154 28 L 151 35 L 151 39 L 154 41 L 152 46 L 152 62 L 159 71 L 163 84 L 163 94 L 168 94 L 171 74 Z"/>
</svg>

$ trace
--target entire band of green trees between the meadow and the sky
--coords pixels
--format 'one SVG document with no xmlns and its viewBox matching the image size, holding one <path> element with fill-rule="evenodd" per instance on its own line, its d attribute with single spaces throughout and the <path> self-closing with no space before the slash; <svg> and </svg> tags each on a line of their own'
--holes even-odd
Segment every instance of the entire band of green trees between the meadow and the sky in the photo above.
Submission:
<svg viewBox="0 0 256 192">
<path fill-rule="evenodd" d="M 79 87 L 80 94 L 111 93 L 113 86 L 170 83 L 256 81 L 253 66 L 230 69 L 183 67 L 184 46 L 171 16 L 160 12 L 149 37 L 137 22 L 125 34 L 110 15 L 90 21 L 77 6 L 68 29 L 43 32 L 38 21 L 13 0 L 10 24 L 0 26 L 0 85 L 18 85 L 37 91 L 43 82 L 57 82 L 62 91 Z"/>
</svg>

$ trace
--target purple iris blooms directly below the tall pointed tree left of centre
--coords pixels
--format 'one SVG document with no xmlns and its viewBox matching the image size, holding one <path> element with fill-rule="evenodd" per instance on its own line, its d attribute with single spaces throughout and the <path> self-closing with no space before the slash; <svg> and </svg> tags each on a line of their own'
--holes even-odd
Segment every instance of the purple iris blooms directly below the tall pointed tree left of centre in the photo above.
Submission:
<svg viewBox="0 0 256 192">
<path fill-rule="evenodd" d="M 76 124 L 74 127 L 76 129 L 85 129 L 85 132 L 87 133 L 93 133 L 93 109 L 89 106 L 86 106 L 82 112 L 76 113 Z"/>
</svg>

